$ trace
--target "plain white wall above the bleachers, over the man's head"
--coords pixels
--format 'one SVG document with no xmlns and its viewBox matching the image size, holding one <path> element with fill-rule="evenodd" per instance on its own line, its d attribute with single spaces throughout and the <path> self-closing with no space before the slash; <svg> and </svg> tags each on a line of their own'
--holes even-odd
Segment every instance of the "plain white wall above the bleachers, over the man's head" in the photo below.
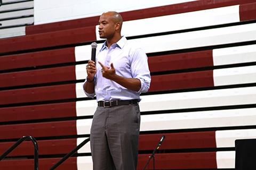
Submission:
<svg viewBox="0 0 256 170">
<path fill-rule="evenodd" d="M 124 12 L 190 1 L 193 0 L 110 0 L 107 3 L 101 0 L 35 0 L 35 24 L 97 16 L 106 11 Z"/>
</svg>

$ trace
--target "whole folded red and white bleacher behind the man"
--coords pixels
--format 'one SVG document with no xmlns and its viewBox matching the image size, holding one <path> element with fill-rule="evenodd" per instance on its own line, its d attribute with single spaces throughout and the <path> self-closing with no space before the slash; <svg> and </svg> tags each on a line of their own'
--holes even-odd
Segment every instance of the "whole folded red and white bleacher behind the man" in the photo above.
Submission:
<svg viewBox="0 0 256 170">
<path fill-rule="evenodd" d="M 235 140 L 256 138 L 256 1 L 191 1 L 121 13 L 123 35 L 148 55 L 138 169 L 235 168 Z M 95 99 L 82 89 L 99 16 L 29 25 L 0 39 L 0 154 L 23 135 L 49 169 L 90 135 Z M 99 48 L 98 48 L 99 49 Z M 32 169 L 29 141 L 0 169 Z M 153 168 L 150 164 L 149 168 Z M 92 169 L 90 144 L 57 169 Z"/>
</svg>

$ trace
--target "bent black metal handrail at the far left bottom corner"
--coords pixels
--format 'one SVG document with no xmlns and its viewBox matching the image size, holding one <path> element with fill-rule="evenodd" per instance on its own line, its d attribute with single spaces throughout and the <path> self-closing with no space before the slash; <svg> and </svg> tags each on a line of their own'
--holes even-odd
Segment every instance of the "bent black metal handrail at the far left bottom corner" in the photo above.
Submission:
<svg viewBox="0 0 256 170">
<path fill-rule="evenodd" d="M 16 143 L 14 143 L 13 146 L 11 146 L 6 152 L 4 152 L 3 155 L 0 156 L 0 161 L 4 159 L 5 156 L 8 155 L 13 149 L 18 147 L 21 142 L 25 140 L 31 140 L 34 144 L 34 169 L 38 170 L 38 145 L 37 145 L 36 139 L 31 136 L 23 136 L 22 138 L 20 138 Z"/>
</svg>

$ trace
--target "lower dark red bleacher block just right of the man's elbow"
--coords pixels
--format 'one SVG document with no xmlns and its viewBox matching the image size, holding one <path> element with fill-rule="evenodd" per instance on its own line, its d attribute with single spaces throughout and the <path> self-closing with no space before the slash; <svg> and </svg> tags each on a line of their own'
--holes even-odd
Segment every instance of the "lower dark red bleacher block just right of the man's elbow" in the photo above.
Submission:
<svg viewBox="0 0 256 170">
<path fill-rule="evenodd" d="M 198 71 L 151 77 L 149 91 L 213 87 L 213 71 Z"/>
</svg>

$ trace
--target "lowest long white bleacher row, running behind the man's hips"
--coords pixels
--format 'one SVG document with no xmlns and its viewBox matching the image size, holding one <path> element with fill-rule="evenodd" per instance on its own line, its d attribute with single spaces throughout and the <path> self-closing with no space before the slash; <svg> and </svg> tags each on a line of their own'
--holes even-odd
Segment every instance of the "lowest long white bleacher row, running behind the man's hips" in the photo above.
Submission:
<svg viewBox="0 0 256 170">
<path fill-rule="evenodd" d="M 141 115 L 140 131 L 254 125 L 256 108 Z M 92 119 L 77 120 L 77 134 L 90 134 Z"/>
</svg>

